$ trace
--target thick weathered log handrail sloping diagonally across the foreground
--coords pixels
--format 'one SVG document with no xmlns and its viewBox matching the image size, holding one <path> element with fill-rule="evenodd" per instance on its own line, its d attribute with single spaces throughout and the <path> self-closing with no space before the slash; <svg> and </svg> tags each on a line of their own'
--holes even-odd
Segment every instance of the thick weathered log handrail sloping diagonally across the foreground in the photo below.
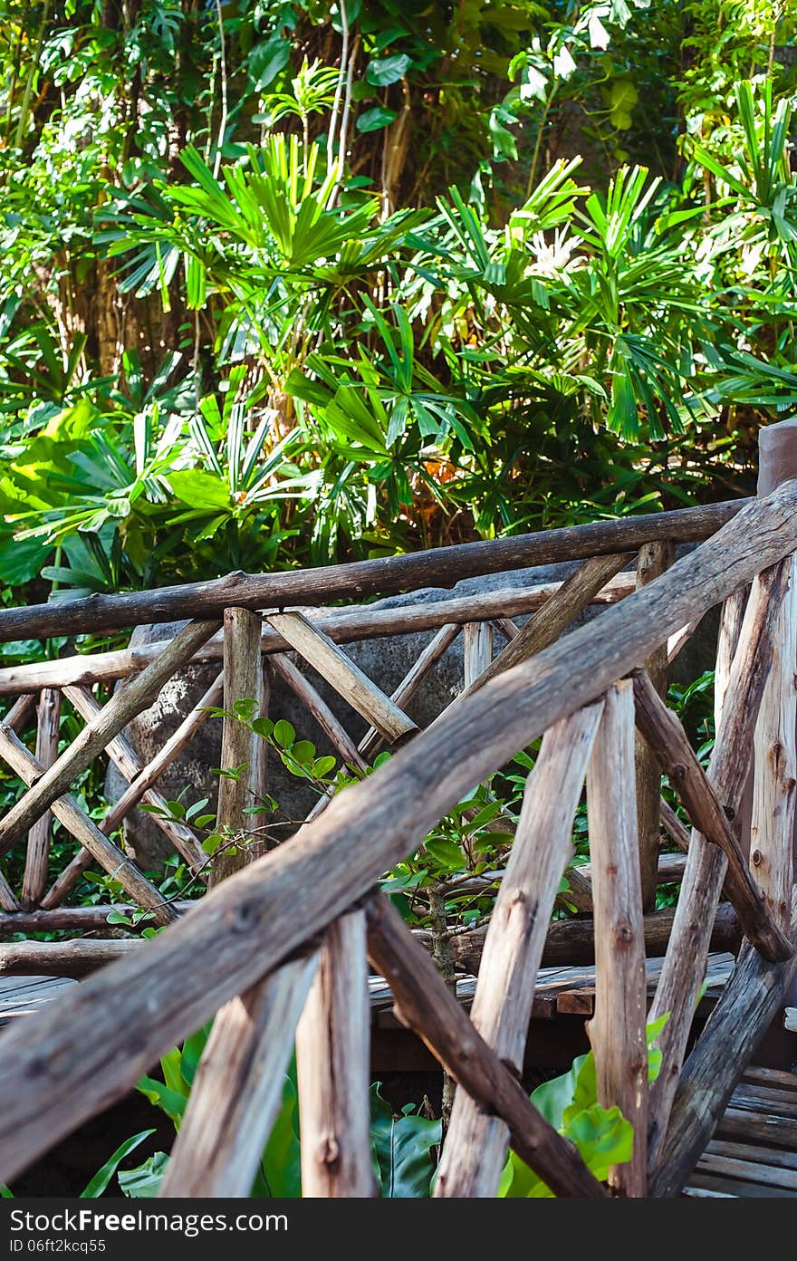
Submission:
<svg viewBox="0 0 797 1261">
<path fill-rule="evenodd" d="M 169 1047 L 324 928 L 420 844 L 474 783 L 589 704 L 699 612 L 797 545 L 797 485 L 757 499 L 657 583 L 499 675 L 334 798 L 290 845 L 208 894 L 168 933 L 4 1031 L 0 1180 L 129 1090 Z M 714 917 L 710 915 L 709 921 Z M 251 950 L 257 939 L 259 951 Z M 122 1016 L 124 1013 L 124 1016 Z M 24 1024 L 24 1023 L 23 1023 Z M 86 1039 L 86 1028 L 93 1038 Z M 135 1044 L 127 1030 L 135 1029 Z"/>
</svg>

